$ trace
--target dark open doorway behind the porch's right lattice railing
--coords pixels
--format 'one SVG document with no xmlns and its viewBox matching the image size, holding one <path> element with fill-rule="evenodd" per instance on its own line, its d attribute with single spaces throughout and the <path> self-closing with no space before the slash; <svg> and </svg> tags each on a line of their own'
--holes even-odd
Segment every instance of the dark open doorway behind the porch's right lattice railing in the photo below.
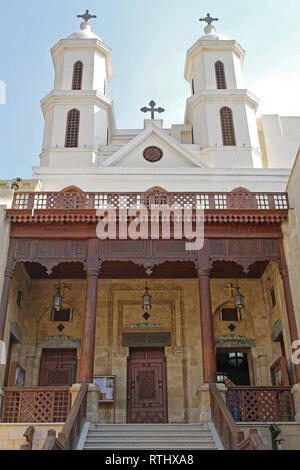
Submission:
<svg viewBox="0 0 300 470">
<path fill-rule="evenodd" d="M 235 385 L 250 385 L 248 354 L 245 349 L 217 349 L 218 382 L 228 378 Z"/>
</svg>

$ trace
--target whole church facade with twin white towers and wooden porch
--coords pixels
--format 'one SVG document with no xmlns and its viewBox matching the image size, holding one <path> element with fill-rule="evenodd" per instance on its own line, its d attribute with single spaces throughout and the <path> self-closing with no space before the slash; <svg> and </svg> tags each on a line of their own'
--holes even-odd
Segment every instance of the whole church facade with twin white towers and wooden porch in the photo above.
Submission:
<svg viewBox="0 0 300 470">
<path fill-rule="evenodd" d="M 209 16 L 184 123 L 150 102 L 143 129 L 118 129 L 89 19 L 51 49 L 40 165 L 0 188 L 2 448 L 1 426 L 61 431 L 78 384 L 93 424 L 210 422 L 218 384 L 237 422 L 290 422 L 297 448 L 300 133 L 257 119 L 245 51 Z"/>
</svg>

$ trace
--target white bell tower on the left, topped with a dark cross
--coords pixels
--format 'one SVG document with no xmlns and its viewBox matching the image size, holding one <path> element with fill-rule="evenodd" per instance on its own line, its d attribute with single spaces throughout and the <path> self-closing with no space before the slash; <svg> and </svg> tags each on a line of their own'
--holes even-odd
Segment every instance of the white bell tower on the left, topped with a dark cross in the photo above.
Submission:
<svg viewBox="0 0 300 470">
<path fill-rule="evenodd" d="M 45 118 L 40 165 L 97 165 L 113 126 L 113 103 L 106 96 L 112 78 L 111 49 L 91 31 L 87 10 L 80 31 L 52 49 L 53 90 L 41 101 Z"/>
</svg>

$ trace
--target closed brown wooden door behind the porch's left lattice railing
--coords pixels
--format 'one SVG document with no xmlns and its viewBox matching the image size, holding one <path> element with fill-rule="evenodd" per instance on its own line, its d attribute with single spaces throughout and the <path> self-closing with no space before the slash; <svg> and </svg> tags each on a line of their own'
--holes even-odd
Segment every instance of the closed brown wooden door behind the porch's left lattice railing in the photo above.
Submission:
<svg viewBox="0 0 300 470">
<path fill-rule="evenodd" d="M 45 349 L 41 359 L 41 387 L 70 386 L 76 382 L 76 349 Z"/>
</svg>

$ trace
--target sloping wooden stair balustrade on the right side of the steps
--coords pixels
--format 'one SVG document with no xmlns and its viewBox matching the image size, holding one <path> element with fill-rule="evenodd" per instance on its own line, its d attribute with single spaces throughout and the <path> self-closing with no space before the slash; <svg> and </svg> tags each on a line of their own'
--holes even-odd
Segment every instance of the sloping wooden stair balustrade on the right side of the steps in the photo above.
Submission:
<svg viewBox="0 0 300 470">
<path fill-rule="evenodd" d="M 221 393 L 215 384 L 209 384 L 211 419 L 225 450 L 266 450 L 263 442 L 254 429 L 245 439 L 232 414 L 230 413 Z M 255 436 L 254 436 L 255 434 Z"/>
</svg>

